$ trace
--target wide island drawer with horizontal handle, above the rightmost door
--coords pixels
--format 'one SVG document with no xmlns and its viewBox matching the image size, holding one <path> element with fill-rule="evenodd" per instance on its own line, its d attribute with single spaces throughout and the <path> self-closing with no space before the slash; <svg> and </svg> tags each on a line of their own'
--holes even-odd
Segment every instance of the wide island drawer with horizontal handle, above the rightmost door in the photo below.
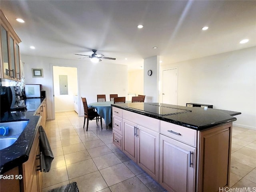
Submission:
<svg viewBox="0 0 256 192">
<path fill-rule="evenodd" d="M 196 130 L 160 121 L 160 133 L 196 147 Z"/>
</svg>

